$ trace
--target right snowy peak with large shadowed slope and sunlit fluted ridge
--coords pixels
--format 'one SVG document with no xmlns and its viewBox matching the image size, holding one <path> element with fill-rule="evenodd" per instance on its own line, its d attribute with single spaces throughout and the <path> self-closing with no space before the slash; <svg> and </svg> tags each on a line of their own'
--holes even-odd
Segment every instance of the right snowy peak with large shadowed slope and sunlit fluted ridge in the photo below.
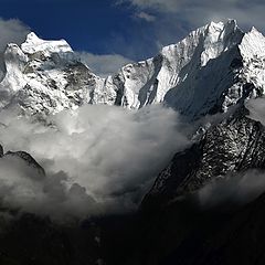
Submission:
<svg viewBox="0 0 265 265">
<path fill-rule="evenodd" d="M 162 102 L 191 118 L 226 112 L 244 91 L 244 35 L 235 20 L 211 22 L 153 59 L 126 65 L 109 82 L 123 88 L 119 103 L 128 108 Z"/>
</svg>

